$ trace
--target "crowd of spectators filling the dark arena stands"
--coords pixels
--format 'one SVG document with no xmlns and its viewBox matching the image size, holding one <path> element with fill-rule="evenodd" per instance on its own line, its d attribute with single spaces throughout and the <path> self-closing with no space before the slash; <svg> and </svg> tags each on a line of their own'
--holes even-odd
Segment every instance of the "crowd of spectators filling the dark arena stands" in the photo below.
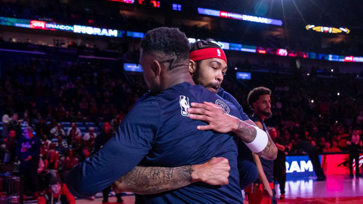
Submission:
<svg viewBox="0 0 363 204">
<path fill-rule="evenodd" d="M 52 177 L 64 179 L 73 166 L 99 150 L 99 144 L 114 135 L 133 104 L 147 93 L 140 75 L 128 76 L 119 67 L 95 60 L 3 59 L 0 133 L 2 147 L 11 157 L 2 173 L 25 168 L 13 164 L 28 159 L 20 146 L 25 144 L 21 141 L 31 140 L 24 139 L 28 127 L 40 141 L 32 157 L 40 160 L 28 178 L 37 179 L 39 186 L 33 185 L 28 193 L 42 190 Z M 250 89 L 272 90 L 273 116 L 266 124 L 288 142 L 289 154 L 304 153 L 298 147 L 301 140 L 320 152 L 347 151 L 352 132 L 362 134 L 362 85 L 361 80 L 344 76 L 325 79 L 301 73 L 256 72 L 251 81 L 239 82 L 234 70 L 222 83 L 248 115 L 252 114 L 247 103 Z M 363 147 L 362 140 L 359 145 Z"/>
</svg>

